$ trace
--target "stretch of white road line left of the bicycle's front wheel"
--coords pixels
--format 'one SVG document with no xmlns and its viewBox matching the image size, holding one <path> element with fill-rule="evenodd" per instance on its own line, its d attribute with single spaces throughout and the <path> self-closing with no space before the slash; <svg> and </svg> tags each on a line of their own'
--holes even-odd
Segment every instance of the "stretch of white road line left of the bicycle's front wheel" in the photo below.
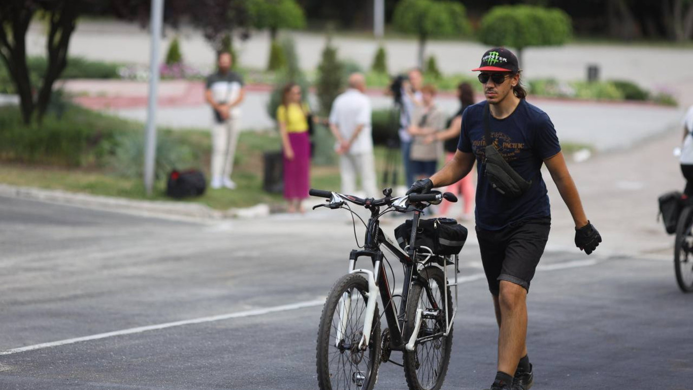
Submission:
<svg viewBox="0 0 693 390">
<path fill-rule="evenodd" d="M 107 337 L 114 337 L 114 336 L 121 336 L 121 335 L 132 335 L 134 333 L 147 332 L 148 330 L 159 330 L 159 329 L 165 329 L 165 328 L 173 328 L 175 326 L 191 325 L 193 323 L 222 321 L 225 319 L 252 317 L 252 316 L 256 316 L 256 315 L 269 314 L 272 312 L 286 312 L 288 310 L 312 308 L 314 306 L 323 305 L 324 303 L 325 303 L 324 299 L 317 299 L 315 301 L 304 301 L 304 302 L 298 302 L 298 303 L 291 303 L 290 305 L 274 306 L 272 308 L 254 309 L 254 310 L 247 310 L 245 312 L 220 314 L 220 315 L 216 315 L 216 316 L 201 317 L 201 318 L 196 318 L 196 319 L 186 319 L 184 321 L 159 323 L 157 325 L 150 325 L 150 326 L 139 326 L 137 328 L 116 330 L 114 332 L 107 332 L 107 333 L 99 333 L 98 335 L 76 337 L 74 339 L 65 339 L 65 340 L 60 340 L 58 342 L 50 342 L 50 343 L 35 344 L 35 345 L 30 345 L 30 346 L 23 346 L 21 348 L 10 349 L 8 351 L 0 351 L 0 355 L 10 355 L 12 353 L 34 351 L 36 349 L 50 348 L 52 346 L 61 346 L 61 345 L 65 345 L 65 344 L 87 342 L 89 340 L 105 339 Z"/>
</svg>

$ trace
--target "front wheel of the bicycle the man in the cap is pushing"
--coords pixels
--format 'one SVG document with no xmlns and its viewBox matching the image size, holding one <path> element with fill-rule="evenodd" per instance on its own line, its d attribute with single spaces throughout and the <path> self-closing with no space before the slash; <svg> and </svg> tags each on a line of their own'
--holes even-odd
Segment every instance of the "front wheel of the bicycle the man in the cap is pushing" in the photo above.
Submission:
<svg viewBox="0 0 693 390">
<path fill-rule="evenodd" d="M 340 337 L 340 342 L 336 342 L 340 328 L 338 308 L 344 303 L 342 297 L 347 292 L 351 294 L 351 310 L 345 317 L 344 335 Z M 358 351 L 358 342 L 363 334 L 367 294 L 366 279 L 359 274 L 347 274 L 337 280 L 327 296 L 317 332 L 317 381 L 321 390 L 372 390 L 378 380 L 381 335 L 377 302 L 367 350 Z M 361 386 L 358 385 L 359 376 L 362 377 Z"/>
</svg>

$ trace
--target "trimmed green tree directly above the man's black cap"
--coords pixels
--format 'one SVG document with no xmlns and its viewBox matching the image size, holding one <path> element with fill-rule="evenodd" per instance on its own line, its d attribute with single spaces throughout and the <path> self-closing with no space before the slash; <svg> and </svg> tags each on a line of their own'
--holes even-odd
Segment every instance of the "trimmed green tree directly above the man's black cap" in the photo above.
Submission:
<svg viewBox="0 0 693 390">
<path fill-rule="evenodd" d="M 572 21 L 562 10 L 523 5 L 492 8 L 479 30 L 484 44 L 516 48 L 520 67 L 527 46 L 562 45 L 571 35 Z"/>
</svg>

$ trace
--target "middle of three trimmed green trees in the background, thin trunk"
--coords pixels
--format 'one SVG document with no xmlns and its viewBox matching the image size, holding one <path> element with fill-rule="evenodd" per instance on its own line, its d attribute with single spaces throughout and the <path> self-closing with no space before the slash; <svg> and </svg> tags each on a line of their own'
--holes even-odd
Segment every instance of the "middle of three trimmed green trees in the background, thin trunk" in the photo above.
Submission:
<svg viewBox="0 0 693 390">
<path fill-rule="evenodd" d="M 419 67 L 423 67 L 426 40 L 463 37 L 471 32 L 464 6 L 452 1 L 402 0 L 394 10 L 393 25 L 402 33 L 419 37 Z"/>
</svg>

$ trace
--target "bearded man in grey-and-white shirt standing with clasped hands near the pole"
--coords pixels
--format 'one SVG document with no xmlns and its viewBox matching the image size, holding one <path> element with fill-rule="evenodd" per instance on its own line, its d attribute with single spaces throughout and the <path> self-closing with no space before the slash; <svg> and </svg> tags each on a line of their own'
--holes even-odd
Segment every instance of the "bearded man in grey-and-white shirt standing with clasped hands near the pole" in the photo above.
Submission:
<svg viewBox="0 0 693 390">
<path fill-rule="evenodd" d="M 231 53 L 217 53 L 217 71 L 207 77 L 204 99 L 214 114 L 212 127 L 211 188 L 236 188 L 231 180 L 238 144 L 238 118 L 245 89 L 243 78 L 231 71 Z"/>
</svg>

